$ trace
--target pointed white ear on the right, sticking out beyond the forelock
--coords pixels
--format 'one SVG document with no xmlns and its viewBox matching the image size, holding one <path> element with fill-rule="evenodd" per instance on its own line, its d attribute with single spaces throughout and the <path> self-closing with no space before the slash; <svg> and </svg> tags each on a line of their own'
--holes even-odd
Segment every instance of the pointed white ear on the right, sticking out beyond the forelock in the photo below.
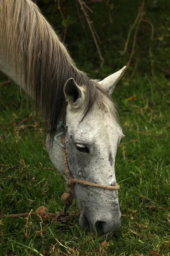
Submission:
<svg viewBox="0 0 170 256">
<path fill-rule="evenodd" d="M 111 76 L 106 77 L 102 81 L 99 81 L 99 84 L 102 85 L 103 89 L 107 91 L 107 93 L 111 94 L 117 82 L 119 81 L 119 76 L 122 74 L 123 70 L 126 68 L 123 67 L 121 70 L 112 74 Z"/>
</svg>

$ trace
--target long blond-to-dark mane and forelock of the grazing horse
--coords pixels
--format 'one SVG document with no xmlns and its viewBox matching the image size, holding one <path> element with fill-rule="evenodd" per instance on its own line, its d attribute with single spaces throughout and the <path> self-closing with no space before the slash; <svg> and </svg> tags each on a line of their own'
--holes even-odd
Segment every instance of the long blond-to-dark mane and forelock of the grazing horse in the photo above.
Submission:
<svg viewBox="0 0 170 256">
<path fill-rule="evenodd" d="M 36 113 L 43 116 L 45 129 L 50 129 L 51 139 L 59 120 L 65 117 L 63 87 L 69 78 L 87 87 L 82 119 L 94 102 L 102 105 L 105 99 L 104 102 L 111 103 L 100 85 L 77 69 L 54 29 L 31 0 L 0 0 L 0 52 L 7 63 L 12 62 L 17 78 L 24 81 L 26 92 L 35 101 Z"/>
</svg>

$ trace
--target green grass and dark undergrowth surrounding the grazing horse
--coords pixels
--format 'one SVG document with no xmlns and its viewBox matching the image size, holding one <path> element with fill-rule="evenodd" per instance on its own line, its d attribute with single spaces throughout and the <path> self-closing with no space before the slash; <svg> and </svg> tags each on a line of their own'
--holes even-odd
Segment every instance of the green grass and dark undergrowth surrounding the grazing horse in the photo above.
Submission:
<svg viewBox="0 0 170 256">
<path fill-rule="evenodd" d="M 66 224 L 1 218 L 0 256 L 170 255 L 170 0 L 36 2 L 80 70 L 103 79 L 128 66 L 113 92 L 126 135 L 115 168 L 122 227 L 110 240 L 83 232 L 75 203 Z M 0 104 L 0 214 L 62 210 L 43 127 L 2 73 Z"/>
</svg>

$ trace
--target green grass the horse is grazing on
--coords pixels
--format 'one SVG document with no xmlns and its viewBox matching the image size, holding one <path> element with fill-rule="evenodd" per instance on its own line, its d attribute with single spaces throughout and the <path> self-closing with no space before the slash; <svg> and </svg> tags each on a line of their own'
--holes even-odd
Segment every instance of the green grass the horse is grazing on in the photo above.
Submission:
<svg viewBox="0 0 170 256">
<path fill-rule="evenodd" d="M 131 9 L 134 17 L 134 6 Z M 125 8 L 120 12 L 127 13 Z M 147 11 L 149 18 L 152 17 L 150 12 Z M 167 22 L 163 17 L 163 9 L 156 10 L 152 22 L 157 33 L 160 32 L 158 24 Z M 126 35 L 122 33 L 134 21 L 131 16 L 130 19 L 124 26 L 123 22 L 127 20 L 125 15 L 124 21 L 116 27 L 116 30 L 120 29 L 120 38 L 117 33 L 115 38 L 111 35 L 113 42 L 119 40 L 121 50 L 124 49 L 128 29 Z M 70 31 L 68 38 L 71 37 Z M 99 68 L 96 53 L 91 61 L 94 49 L 88 52 L 83 44 L 89 39 L 82 38 L 82 47 L 79 47 L 77 38 L 75 34 L 69 49 L 79 67 L 86 72 L 97 78 L 107 76 L 113 67 L 113 56 L 116 56 L 114 65 L 121 67 L 122 56 L 116 51 L 117 44 L 113 55 L 110 53 L 113 45 L 103 48 L 106 63 Z M 138 39 L 140 41 L 140 35 Z M 148 40 L 146 34 L 147 45 L 150 44 Z M 156 48 L 156 41 L 152 44 L 157 76 L 151 74 L 148 47 L 145 46 L 133 79 L 129 77 L 135 62 L 113 92 L 126 136 L 119 145 L 115 167 L 117 182 L 121 186 L 120 230 L 110 240 L 83 232 L 78 224 L 79 213 L 74 202 L 70 211 L 76 215 L 66 224 L 41 221 L 36 217 L 0 219 L 0 256 L 170 254 L 170 81 L 165 78 L 163 69 L 159 69 L 162 55 L 167 54 L 167 39 L 165 37 L 159 42 L 159 48 Z M 74 50 L 76 45 L 77 51 Z M 134 61 L 136 55 L 137 51 L 134 52 Z M 168 65 L 168 61 L 168 58 L 164 59 L 162 68 Z M 0 81 L 6 80 L 1 74 Z M 51 164 L 43 130 L 35 120 L 34 108 L 29 101 L 26 107 L 25 94 L 22 93 L 21 99 L 20 90 L 13 82 L 1 85 L 0 91 L 0 213 L 29 212 L 41 205 L 48 207 L 49 212 L 62 210 L 64 178 Z M 133 98 L 129 99 L 131 96 Z"/>
</svg>

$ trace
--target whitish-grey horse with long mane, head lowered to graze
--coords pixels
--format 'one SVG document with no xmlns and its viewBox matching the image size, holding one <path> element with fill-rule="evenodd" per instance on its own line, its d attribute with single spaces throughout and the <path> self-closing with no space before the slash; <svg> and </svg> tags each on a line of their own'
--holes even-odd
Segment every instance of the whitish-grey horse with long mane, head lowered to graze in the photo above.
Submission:
<svg viewBox="0 0 170 256">
<path fill-rule="evenodd" d="M 125 68 L 125 67 L 124 67 Z M 110 94 L 122 68 L 102 81 L 78 70 L 58 36 L 31 0 L 0 0 L 0 70 L 35 101 L 49 129 L 47 148 L 65 180 L 62 148 L 54 142 L 66 123 L 65 150 L 74 178 L 115 186 L 115 157 L 122 137 Z M 121 225 L 118 192 L 75 184 L 79 224 L 99 236 Z"/>
</svg>

